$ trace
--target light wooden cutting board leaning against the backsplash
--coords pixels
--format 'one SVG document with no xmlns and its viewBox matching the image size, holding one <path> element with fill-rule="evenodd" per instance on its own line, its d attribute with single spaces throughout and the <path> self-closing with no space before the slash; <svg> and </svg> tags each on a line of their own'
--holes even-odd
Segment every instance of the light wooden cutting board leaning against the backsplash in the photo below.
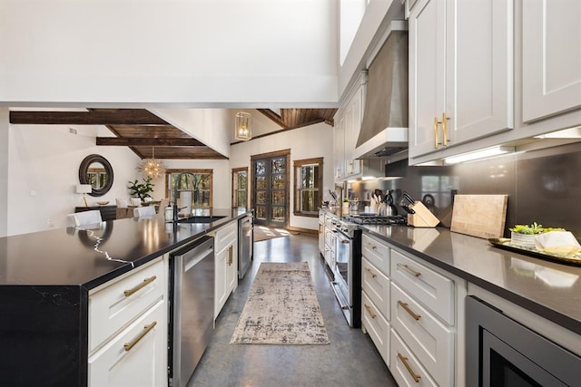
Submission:
<svg viewBox="0 0 581 387">
<path fill-rule="evenodd" d="M 473 237 L 502 237 L 508 195 L 456 195 L 450 231 Z"/>
</svg>

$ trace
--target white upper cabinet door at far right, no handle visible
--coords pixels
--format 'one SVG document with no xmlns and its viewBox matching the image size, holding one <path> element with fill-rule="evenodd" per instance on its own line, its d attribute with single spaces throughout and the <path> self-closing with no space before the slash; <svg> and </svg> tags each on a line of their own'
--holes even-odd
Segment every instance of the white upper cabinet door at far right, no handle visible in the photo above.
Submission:
<svg viewBox="0 0 581 387">
<path fill-rule="evenodd" d="M 523 121 L 581 108 L 581 2 L 522 4 Z"/>
</svg>

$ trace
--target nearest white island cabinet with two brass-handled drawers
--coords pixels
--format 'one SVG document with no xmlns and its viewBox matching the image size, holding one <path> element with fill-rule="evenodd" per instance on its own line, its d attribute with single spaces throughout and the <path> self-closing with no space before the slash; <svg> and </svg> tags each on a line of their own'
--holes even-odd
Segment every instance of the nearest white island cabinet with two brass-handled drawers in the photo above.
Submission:
<svg viewBox="0 0 581 387">
<path fill-rule="evenodd" d="M 89 386 L 167 385 L 168 256 L 89 294 Z"/>
</svg>

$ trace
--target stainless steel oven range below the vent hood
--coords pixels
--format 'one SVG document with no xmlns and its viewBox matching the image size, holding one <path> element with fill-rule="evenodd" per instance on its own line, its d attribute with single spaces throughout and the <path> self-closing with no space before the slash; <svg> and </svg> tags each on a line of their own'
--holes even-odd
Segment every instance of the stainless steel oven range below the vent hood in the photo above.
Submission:
<svg viewBox="0 0 581 387">
<path fill-rule="evenodd" d="M 361 326 L 361 230 L 357 225 L 337 220 L 333 222 L 335 260 L 331 265 L 334 279 L 331 285 L 347 322 L 353 328 Z"/>
</svg>

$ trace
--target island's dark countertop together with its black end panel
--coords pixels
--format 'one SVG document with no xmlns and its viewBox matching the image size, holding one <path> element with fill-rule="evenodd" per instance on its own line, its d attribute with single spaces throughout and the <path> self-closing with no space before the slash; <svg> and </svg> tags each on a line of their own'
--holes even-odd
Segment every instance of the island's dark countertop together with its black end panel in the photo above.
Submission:
<svg viewBox="0 0 581 387">
<path fill-rule="evenodd" d="M 3 382 L 86 385 L 90 292 L 248 212 L 212 209 L 203 215 L 223 217 L 212 223 L 166 223 L 160 214 L 0 238 Z"/>
</svg>

